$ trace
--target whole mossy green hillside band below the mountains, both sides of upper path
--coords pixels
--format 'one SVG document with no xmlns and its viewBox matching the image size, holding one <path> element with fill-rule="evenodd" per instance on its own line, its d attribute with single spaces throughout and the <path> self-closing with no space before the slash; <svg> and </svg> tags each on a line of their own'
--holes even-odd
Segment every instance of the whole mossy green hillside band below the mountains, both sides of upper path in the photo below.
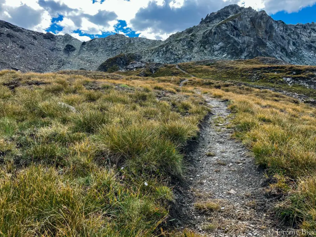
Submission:
<svg viewBox="0 0 316 237">
<path fill-rule="evenodd" d="M 179 76 L 184 78 L 190 78 L 190 75 L 193 75 L 205 80 L 242 82 L 249 86 L 269 87 L 316 99 L 315 87 L 310 86 L 315 85 L 315 66 L 286 65 L 283 61 L 263 57 L 234 61 L 204 60 L 178 65 L 188 74 L 181 72 L 173 64 L 164 64 L 154 74 L 150 72 L 149 68 L 116 73 L 125 76 Z M 289 83 L 283 78 L 286 80 L 290 78 L 291 82 Z"/>
</svg>

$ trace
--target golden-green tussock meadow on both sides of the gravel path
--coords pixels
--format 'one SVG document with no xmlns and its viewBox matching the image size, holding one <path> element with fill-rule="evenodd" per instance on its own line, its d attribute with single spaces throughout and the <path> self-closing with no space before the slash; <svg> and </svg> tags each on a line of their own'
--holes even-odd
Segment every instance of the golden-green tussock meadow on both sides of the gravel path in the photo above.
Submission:
<svg viewBox="0 0 316 237">
<path fill-rule="evenodd" d="M 228 101 L 235 137 L 273 180 L 267 194 L 286 196 L 277 214 L 314 230 L 316 109 L 211 79 L 179 87 L 183 79 L 1 71 L 2 235 L 194 236 L 164 230 L 208 97 Z"/>
</svg>

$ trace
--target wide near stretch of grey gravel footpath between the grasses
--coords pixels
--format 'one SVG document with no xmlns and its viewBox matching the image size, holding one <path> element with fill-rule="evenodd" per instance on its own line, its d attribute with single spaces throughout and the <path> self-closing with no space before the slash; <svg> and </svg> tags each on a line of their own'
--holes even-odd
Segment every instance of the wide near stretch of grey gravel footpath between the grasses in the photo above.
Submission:
<svg viewBox="0 0 316 237">
<path fill-rule="evenodd" d="M 264 195 L 262 171 L 251 152 L 231 138 L 226 102 L 204 99 L 212 115 L 188 153 L 193 163 L 180 201 L 186 218 L 182 228 L 204 236 L 274 236 L 274 204 Z"/>
</svg>

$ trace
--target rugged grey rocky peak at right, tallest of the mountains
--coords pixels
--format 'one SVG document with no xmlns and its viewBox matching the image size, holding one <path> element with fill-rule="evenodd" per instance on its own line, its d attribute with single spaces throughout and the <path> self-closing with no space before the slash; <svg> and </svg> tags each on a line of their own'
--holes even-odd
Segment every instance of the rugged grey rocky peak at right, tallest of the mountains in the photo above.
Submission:
<svg viewBox="0 0 316 237">
<path fill-rule="evenodd" d="M 154 52 L 155 61 L 273 57 L 291 64 L 316 64 L 316 25 L 287 25 L 265 11 L 229 5 L 198 26 L 170 36 Z"/>
</svg>

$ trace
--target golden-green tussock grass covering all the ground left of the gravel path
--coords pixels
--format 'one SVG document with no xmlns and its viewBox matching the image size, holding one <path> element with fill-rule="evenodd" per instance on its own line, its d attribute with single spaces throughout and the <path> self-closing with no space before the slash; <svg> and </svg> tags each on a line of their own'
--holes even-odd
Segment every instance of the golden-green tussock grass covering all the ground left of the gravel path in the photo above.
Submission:
<svg viewBox="0 0 316 237">
<path fill-rule="evenodd" d="M 89 75 L 0 72 L 4 235 L 161 232 L 173 200 L 168 180 L 184 173 L 180 146 L 208 109 L 175 90 L 178 79 Z M 168 92 L 157 97 L 160 83 Z"/>
</svg>

